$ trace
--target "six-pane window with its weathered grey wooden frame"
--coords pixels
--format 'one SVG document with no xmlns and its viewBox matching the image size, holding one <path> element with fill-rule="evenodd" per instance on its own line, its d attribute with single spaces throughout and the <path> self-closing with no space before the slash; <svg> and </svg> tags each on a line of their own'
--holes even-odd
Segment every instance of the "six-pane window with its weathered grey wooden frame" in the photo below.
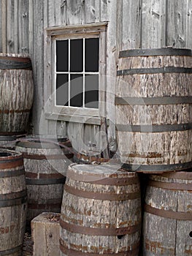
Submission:
<svg viewBox="0 0 192 256">
<path fill-rule="evenodd" d="M 46 29 L 46 118 L 100 124 L 106 29 L 107 23 Z"/>
</svg>

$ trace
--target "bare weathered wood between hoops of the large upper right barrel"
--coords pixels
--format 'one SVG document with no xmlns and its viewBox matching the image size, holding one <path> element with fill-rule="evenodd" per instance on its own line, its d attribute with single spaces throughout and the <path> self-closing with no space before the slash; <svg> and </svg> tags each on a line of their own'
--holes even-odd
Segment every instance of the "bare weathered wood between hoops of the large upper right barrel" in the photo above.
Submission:
<svg viewBox="0 0 192 256">
<path fill-rule="evenodd" d="M 148 56 L 120 59 L 119 69 L 191 67 L 190 56 Z M 185 86 L 181 86 L 184 85 Z M 191 74 L 167 73 L 120 76 L 118 97 L 191 96 Z M 116 124 L 154 125 L 191 123 L 191 104 L 116 105 Z M 118 131 L 121 161 L 138 165 L 191 162 L 191 129 L 170 132 Z"/>
</svg>

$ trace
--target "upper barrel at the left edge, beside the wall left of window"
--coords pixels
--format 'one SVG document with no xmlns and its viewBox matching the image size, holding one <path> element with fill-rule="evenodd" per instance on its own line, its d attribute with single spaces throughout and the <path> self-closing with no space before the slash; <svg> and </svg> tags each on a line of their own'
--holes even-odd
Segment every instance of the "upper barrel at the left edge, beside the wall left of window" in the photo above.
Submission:
<svg viewBox="0 0 192 256">
<path fill-rule="evenodd" d="M 34 97 L 31 60 L 0 53 L 0 134 L 25 133 Z"/>
</svg>

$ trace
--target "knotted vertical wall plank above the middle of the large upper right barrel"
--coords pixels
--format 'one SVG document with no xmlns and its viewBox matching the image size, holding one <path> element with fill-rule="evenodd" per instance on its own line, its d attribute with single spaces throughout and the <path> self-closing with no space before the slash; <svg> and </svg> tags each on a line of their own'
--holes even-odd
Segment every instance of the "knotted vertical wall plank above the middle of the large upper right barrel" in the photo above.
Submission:
<svg viewBox="0 0 192 256">
<path fill-rule="evenodd" d="M 142 0 L 142 48 L 165 45 L 166 0 Z"/>
</svg>

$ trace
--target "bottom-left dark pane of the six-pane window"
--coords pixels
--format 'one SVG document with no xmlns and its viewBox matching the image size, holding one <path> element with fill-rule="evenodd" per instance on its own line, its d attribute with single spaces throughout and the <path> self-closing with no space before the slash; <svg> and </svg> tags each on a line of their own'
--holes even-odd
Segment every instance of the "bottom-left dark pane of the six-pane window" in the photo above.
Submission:
<svg viewBox="0 0 192 256">
<path fill-rule="evenodd" d="M 56 78 L 56 105 L 68 106 L 68 75 L 57 75 Z"/>
</svg>

